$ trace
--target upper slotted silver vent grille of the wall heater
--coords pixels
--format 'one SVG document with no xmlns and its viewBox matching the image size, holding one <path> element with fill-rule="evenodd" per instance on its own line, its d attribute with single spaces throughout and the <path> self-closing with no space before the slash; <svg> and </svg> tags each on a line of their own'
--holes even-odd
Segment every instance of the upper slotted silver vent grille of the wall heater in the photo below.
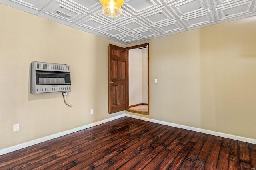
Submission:
<svg viewBox="0 0 256 170">
<path fill-rule="evenodd" d="M 36 70 L 70 72 L 70 65 L 52 64 L 52 63 L 36 63 Z"/>
</svg>

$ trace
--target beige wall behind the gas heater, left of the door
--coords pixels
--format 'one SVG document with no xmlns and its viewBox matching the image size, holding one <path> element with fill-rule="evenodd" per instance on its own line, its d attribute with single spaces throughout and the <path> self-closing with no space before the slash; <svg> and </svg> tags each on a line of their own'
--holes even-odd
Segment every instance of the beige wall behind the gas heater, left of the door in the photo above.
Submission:
<svg viewBox="0 0 256 170">
<path fill-rule="evenodd" d="M 108 114 L 108 43 L 0 4 L 0 149 L 120 115 Z M 30 94 L 30 63 L 71 65 L 72 91 Z M 90 109 L 94 114 L 90 115 Z M 13 124 L 20 131 L 13 132 Z"/>
</svg>

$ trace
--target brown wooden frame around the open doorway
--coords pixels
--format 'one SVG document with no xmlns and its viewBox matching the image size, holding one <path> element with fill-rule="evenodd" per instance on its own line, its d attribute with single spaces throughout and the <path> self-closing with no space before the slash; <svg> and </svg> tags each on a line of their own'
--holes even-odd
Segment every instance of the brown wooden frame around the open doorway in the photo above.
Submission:
<svg viewBox="0 0 256 170">
<path fill-rule="evenodd" d="M 148 113 L 145 113 L 145 115 L 149 115 L 149 43 L 144 43 L 140 45 L 135 45 L 132 47 L 126 47 L 128 49 L 128 68 L 129 68 L 129 50 L 130 49 L 136 49 L 141 47 L 148 47 Z M 129 70 L 128 70 L 128 82 L 129 82 Z M 128 83 L 128 106 L 129 106 L 129 83 Z"/>
</svg>

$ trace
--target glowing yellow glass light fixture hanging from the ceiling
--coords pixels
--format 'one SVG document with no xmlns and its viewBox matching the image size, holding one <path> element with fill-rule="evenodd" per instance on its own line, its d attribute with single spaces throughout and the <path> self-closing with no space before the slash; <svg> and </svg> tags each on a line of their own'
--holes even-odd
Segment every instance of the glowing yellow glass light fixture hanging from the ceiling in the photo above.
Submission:
<svg viewBox="0 0 256 170">
<path fill-rule="evenodd" d="M 102 13 L 108 17 L 118 17 L 122 14 L 121 6 L 124 0 L 100 0 Z"/>
</svg>

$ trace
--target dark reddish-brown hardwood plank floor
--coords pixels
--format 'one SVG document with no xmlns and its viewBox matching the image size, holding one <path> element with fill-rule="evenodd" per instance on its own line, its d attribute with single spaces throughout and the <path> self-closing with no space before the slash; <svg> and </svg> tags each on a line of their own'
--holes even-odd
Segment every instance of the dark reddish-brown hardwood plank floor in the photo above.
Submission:
<svg viewBox="0 0 256 170">
<path fill-rule="evenodd" d="M 252 170 L 256 144 L 130 117 L 0 156 L 1 170 Z"/>
</svg>

